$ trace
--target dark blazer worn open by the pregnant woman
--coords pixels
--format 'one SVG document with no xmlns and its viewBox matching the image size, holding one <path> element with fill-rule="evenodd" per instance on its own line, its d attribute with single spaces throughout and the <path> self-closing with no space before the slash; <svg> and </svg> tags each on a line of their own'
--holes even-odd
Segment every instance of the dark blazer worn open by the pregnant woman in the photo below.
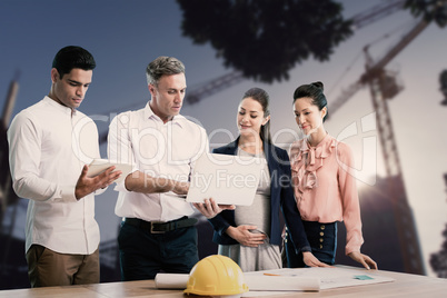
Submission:
<svg viewBox="0 0 447 298">
<path fill-rule="evenodd" d="M 237 153 L 238 142 L 239 138 L 226 146 L 213 149 L 212 153 L 235 156 Z M 286 150 L 280 149 L 279 147 L 276 147 L 269 142 L 264 142 L 264 151 L 266 153 L 271 179 L 270 244 L 281 244 L 282 227 L 279 219 L 279 210 L 281 210 L 288 232 L 291 236 L 297 252 L 299 250 L 310 251 L 310 245 L 302 227 L 301 216 L 295 201 L 294 189 L 291 186 L 289 156 Z M 215 229 L 215 234 L 212 236 L 212 240 L 215 242 L 219 245 L 238 244 L 238 241 L 225 232 L 229 226 L 236 227 L 234 210 L 224 210 L 216 217 L 209 219 L 209 222 L 211 222 Z"/>
</svg>

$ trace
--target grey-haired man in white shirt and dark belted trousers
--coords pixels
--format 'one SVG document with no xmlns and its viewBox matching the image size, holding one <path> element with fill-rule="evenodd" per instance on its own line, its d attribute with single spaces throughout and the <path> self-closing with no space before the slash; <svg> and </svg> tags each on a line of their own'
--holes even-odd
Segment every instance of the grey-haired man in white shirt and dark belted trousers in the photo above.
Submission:
<svg viewBox="0 0 447 298">
<path fill-rule="evenodd" d="M 193 207 L 185 201 L 195 160 L 208 151 L 202 127 L 181 116 L 185 66 L 159 57 L 147 68 L 151 100 L 110 123 L 111 161 L 132 163 L 119 191 L 116 213 L 122 280 L 153 279 L 157 272 L 189 274 L 199 260 Z"/>
</svg>

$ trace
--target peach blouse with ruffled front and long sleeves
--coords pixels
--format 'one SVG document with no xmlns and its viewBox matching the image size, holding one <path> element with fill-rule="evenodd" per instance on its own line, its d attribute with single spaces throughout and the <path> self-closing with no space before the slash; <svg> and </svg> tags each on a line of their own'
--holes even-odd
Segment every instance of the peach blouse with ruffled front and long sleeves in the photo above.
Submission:
<svg viewBox="0 0 447 298">
<path fill-rule="evenodd" d="M 346 254 L 360 251 L 360 206 L 350 148 L 327 135 L 316 147 L 306 139 L 290 147 L 295 197 L 301 219 L 321 224 L 344 221 Z"/>
</svg>

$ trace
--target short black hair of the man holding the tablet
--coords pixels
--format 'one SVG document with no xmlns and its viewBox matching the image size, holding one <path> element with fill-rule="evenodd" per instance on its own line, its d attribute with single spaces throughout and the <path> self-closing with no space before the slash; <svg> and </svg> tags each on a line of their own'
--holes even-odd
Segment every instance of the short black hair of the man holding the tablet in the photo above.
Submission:
<svg viewBox="0 0 447 298">
<path fill-rule="evenodd" d="M 52 67 L 58 70 L 60 78 L 66 73 L 70 73 L 73 68 L 93 70 L 96 66 L 93 56 L 86 49 L 77 46 L 68 46 L 60 49 L 52 60 Z"/>
</svg>

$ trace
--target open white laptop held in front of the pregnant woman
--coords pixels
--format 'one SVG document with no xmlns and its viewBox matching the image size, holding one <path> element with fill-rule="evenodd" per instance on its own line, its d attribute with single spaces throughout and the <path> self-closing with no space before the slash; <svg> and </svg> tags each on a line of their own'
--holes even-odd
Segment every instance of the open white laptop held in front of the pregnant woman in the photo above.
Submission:
<svg viewBox="0 0 447 298">
<path fill-rule="evenodd" d="M 261 158 L 205 153 L 193 166 L 186 200 L 212 198 L 220 205 L 250 206 L 265 163 Z"/>
</svg>

